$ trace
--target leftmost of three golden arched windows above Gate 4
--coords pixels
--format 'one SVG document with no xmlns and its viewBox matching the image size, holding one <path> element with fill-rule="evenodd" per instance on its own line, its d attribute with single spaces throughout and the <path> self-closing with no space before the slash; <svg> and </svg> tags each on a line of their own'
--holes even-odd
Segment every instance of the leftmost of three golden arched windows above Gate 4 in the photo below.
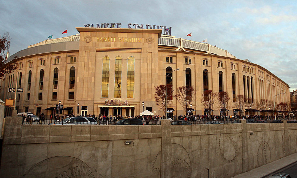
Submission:
<svg viewBox="0 0 297 178">
<path fill-rule="evenodd" d="M 101 97 L 102 98 L 108 98 L 109 61 L 110 61 L 110 58 L 108 56 L 103 57 L 102 89 L 101 89 Z"/>
</svg>

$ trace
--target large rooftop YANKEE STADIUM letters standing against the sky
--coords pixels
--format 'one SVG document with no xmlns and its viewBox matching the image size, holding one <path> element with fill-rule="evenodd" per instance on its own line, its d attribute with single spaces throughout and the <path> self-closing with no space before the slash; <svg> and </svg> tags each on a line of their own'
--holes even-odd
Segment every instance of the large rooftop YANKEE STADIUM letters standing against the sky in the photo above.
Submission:
<svg viewBox="0 0 297 178">
<path fill-rule="evenodd" d="M 96 23 L 94 24 L 84 24 L 83 26 L 85 27 L 91 27 L 91 28 L 121 28 L 122 24 L 121 23 Z M 164 35 L 171 35 L 171 27 L 166 27 L 166 26 L 160 26 L 160 25 L 143 25 L 143 24 L 138 24 L 138 23 L 129 23 L 128 28 L 146 28 L 146 29 L 162 29 Z"/>
</svg>

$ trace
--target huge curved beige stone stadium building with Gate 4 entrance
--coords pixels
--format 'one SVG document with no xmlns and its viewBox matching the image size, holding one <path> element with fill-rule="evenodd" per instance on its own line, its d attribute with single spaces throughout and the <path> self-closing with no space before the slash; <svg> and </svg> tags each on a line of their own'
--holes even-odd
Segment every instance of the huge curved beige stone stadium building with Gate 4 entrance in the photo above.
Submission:
<svg viewBox="0 0 297 178">
<path fill-rule="evenodd" d="M 18 69 L 1 79 L 0 99 L 14 98 L 8 90 L 18 83 L 23 88 L 17 93 L 18 112 L 56 114 L 61 101 L 61 114 L 134 116 L 143 111 L 144 102 L 144 110 L 163 115 L 154 87 L 167 82 L 173 91 L 180 86 L 195 88 L 192 114 L 205 114 L 204 90 L 227 91 L 232 114 L 238 94 L 245 102 L 290 102 L 284 81 L 227 50 L 162 35 L 160 29 L 76 29 L 77 35 L 45 40 L 11 55 L 9 61 L 18 56 Z M 279 93 L 285 94 L 274 97 Z M 172 99 L 170 115 L 185 115 Z M 219 115 L 217 106 L 213 110 Z M 11 112 L 11 107 L 5 108 L 5 116 Z"/>
</svg>

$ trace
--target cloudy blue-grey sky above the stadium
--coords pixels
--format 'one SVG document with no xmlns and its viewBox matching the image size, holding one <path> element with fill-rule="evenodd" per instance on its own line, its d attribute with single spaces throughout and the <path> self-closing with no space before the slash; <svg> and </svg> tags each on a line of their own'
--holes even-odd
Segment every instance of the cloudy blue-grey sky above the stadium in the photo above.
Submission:
<svg viewBox="0 0 297 178">
<path fill-rule="evenodd" d="M 297 89 L 297 1 L 34 1 L 0 0 L 0 34 L 10 54 L 29 45 L 77 34 L 84 24 L 129 23 L 171 28 L 171 35 L 228 50 L 258 64 Z"/>
</svg>

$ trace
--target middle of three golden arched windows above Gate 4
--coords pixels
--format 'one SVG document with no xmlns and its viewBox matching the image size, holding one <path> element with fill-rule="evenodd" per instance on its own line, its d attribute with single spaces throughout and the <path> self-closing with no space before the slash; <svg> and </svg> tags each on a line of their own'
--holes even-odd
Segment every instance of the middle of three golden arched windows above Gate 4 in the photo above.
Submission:
<svg viewBox="0 0 297 178">
<path fill-rule="evenodd" d="M 122 83 L 122 57 L 116 57 L 115 75 L 114 75 L 114 97 L 121 98 L 121 83 Z"/>
</svg>

